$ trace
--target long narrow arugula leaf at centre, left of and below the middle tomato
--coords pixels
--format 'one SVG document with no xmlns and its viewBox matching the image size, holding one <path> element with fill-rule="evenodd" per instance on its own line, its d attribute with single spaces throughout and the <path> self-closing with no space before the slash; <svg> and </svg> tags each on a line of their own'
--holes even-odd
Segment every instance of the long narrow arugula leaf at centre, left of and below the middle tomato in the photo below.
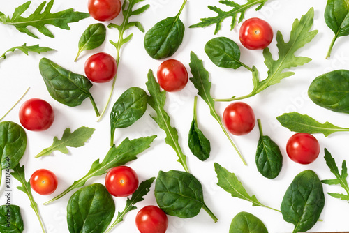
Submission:
<svg viewBox="0 0 349 233">
<path fill-rule="evenodd" d="M 178 162 L 184 167 L 186 172 L 189 172 L 188 165 L 186 164 L 186 156 L 181 151 L 181 146 L 178 142 L 178 131 L 171 126 L 171 119 L 167 112 L 164 110 L 166 91 L 160 91 L 160 85 L 156 82 L 153 75 L 153 71 L 149 70 L 147 88 L 150 96 L 148 97 L 149 105 L 155 110 L 156 117 L 151 116 L 158 126 L 165 131 L 165 142 L 170 145 L 178 156 Z"/>
</svg>

